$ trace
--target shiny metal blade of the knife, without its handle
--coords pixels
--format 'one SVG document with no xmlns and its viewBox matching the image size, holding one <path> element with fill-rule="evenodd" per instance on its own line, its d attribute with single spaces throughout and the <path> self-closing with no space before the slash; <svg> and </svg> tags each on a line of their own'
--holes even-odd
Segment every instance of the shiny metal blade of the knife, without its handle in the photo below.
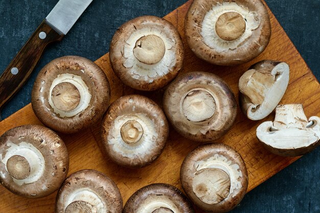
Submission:
<svg viewBox="0 0 320 213">
<path fill-rule="evenodd" d="M 55 31 L 66 35 L 93 0 L 60 0 L 45 18 Z"/>
</svg>

